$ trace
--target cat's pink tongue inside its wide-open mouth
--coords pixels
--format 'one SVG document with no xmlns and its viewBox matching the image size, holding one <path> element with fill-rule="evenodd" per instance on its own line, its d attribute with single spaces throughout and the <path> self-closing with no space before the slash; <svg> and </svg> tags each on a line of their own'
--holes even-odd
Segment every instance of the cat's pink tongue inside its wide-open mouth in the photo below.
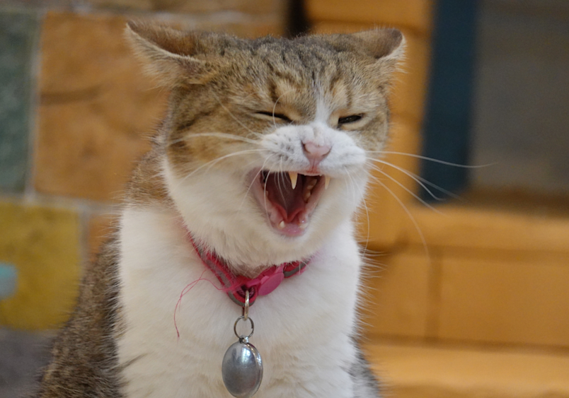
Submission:
<svg viewBox="0 0 569 398">
<path fill-rule="evenodd" d="M 292 223 L 297 215 L 306 209 L 304 201 L 305 178 L 299 175 L 297 186 L 292 189 L 288 173 L 272 172 L 268 175 L 264 189 L 267 197 L 281 213 L 284 222 Z"/>
</svg>

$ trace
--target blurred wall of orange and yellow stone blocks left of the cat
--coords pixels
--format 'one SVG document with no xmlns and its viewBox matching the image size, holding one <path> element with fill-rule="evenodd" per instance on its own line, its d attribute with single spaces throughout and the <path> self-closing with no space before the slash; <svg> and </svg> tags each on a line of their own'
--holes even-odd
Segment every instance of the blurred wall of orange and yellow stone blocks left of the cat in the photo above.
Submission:
<svg viewBox="0 0 569 398">
<path fill-rule="evenodd" d="M 110 231 L 167 93 L 122 38 L 129 19 L 244 37 L 284 32 L 286 0 L 8 0 L 0 5 L 0 326 L 50 329 Z"/>
</svg>

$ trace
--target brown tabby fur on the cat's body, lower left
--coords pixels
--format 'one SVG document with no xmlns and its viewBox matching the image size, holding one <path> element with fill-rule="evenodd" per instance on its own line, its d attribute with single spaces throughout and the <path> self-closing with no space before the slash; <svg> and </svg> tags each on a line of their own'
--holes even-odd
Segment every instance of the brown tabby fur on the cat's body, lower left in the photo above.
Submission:
<svg viewBox="0 0 569 398">
<path fill-rule="evenodd" d="M 121 397 L 114 241 L 86 270 L 76 308 L 54 342 L 53 361 L 45 368 L 38 397 Z"/>
</svg>

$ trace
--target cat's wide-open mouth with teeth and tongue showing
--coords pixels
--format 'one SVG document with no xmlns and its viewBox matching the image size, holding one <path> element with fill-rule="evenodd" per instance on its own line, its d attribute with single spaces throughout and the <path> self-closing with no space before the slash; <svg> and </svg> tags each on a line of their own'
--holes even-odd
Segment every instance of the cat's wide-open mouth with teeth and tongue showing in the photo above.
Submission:
<svg viewBox="0 0 569 398">
<path fill-rule="evenodd" d="M 283 235 L 302 235 L 330 177 L 268 170 L 255 175 L 251 189 L 272 228 Z"/>
</svg>

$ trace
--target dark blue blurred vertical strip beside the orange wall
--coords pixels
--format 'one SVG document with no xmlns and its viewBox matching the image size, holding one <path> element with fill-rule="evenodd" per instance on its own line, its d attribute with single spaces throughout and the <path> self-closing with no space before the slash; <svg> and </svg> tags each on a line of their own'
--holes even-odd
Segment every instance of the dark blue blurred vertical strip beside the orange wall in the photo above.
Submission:
<svg viewBox="0 0 569 398">
<path fill-rule="evenodd" d="M 477 3 L 437 1 L 423 131 L 423 156 L 461 165 L 469 162 Z M 423 160 L 420 170 L 427 181 L 455 194 L 468 184 L 466 168 Z M 433 200 L 427 192 L 420 196 Z"/>
</svg>

